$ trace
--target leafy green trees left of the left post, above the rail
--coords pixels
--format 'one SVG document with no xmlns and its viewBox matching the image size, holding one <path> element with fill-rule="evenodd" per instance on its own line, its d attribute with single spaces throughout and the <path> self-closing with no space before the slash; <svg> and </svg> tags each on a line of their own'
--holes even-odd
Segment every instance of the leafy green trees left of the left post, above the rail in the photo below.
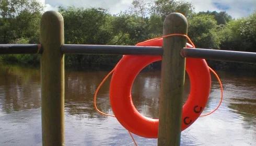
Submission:
<svg viewBox="0 0 256 146">
<path fill-rule="evenodd" d="M 0 1 L 0 43 L 27 38 L 39 43 L 39 22 L 43 6 L 36 0 Z"/>
</svg>

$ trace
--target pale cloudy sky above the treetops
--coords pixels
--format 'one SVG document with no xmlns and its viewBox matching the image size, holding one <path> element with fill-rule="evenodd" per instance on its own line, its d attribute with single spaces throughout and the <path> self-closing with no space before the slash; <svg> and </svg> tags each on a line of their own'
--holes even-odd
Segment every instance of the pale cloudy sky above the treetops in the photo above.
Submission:
<svg viewBox="0 0 256 146">
<path fill-rule="evenodd" d="M 111 14 L 129 9 L 133 0 L 38 0 L 46 10 L 57 10 L 58 6 L 101 7 Z M 154 1 L 154 0 L 149 0 Z M 181 0 L 193 4 L 195 11 L 226 11 L 233 18 L 249 16 L 256 11 L 256 0 Z"/>
</svg>

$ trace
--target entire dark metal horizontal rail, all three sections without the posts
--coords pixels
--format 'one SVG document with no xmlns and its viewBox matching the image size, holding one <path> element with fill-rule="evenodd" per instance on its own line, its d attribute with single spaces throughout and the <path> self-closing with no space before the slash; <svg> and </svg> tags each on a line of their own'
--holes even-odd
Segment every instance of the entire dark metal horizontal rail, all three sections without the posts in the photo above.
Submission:
<svg viewBox="0 0 256 146">
<path fill-rule="evenodd" d="M 162 55 L 159 46 L 126 46 L 126 45 L 76 45 L 64 44 L 61 51 L 65 54 L 106 54 L 106 55 Z M 0 54 L 36 54 L 42 53 L 40 44 L 0 44 Z M 211 50 L 205 48 L 182 48 L 181 56 L 205 58 L 256 64 L 256 53 Z"/>
</svg>

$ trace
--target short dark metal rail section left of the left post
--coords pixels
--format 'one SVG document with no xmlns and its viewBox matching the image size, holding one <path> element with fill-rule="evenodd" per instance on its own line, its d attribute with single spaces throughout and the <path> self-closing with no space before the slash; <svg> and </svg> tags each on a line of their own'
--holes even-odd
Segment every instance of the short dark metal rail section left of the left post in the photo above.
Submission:
<svg viewBox="0 0 256 146">
<path fill-rule="evenodd" d="M 40 44 L 0 44 L 0 54 L 41 53 Z"/>
</svg>

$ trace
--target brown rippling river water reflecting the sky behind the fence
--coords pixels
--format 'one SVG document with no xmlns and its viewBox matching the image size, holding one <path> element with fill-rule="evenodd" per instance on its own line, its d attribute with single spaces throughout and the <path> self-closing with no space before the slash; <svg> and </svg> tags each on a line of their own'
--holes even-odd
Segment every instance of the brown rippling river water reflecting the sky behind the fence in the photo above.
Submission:
<svg viewBox="0 0 256 146">
<path fill-rule="evenodd" d="M 66 145 L 133 145 L 127 131 L 115 118 L 95 112 L 92 97 L 106 71 L 65 72 Z M 199 118 L 182 132 L 181 145 L 255 145 L 256 77 L 219 72 L 224 84 L 224 102 L 214 114 Z M 158 117 L 160 72 L 142 72 L 135 80 L 133 102 L 143 115 Z M 187 79 L 188 80 L 188 79 Z M 99 92 L 98 105 L 112 113 L 109 80 Z M 189 94 L 186 81 L 184 101 Z M 219 100 L 213 79 L 208 105 Z M 41 145 L 41 85 L 39 69 L 0 66 L 0 145 Z M 156 139 L 135 136 L 138 145 L 157 145 Z"/>
</svg>

